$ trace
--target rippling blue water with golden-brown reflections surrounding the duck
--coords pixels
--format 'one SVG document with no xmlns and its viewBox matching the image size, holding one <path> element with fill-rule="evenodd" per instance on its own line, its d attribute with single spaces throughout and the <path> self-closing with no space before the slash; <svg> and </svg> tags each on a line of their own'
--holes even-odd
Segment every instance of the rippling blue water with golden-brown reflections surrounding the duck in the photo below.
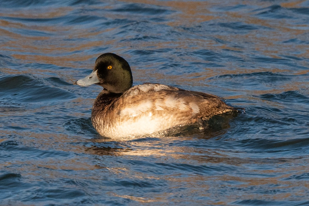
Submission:
<svg viewBox="0 0 309 206">
<path fill-rule="evenodd" d="M 309 205 L 308 1 L 0 1 L 1 205 Z M 134 85 L 245 107 L 116 141 L 90 121 L 113 52 Z"/>
</svg>

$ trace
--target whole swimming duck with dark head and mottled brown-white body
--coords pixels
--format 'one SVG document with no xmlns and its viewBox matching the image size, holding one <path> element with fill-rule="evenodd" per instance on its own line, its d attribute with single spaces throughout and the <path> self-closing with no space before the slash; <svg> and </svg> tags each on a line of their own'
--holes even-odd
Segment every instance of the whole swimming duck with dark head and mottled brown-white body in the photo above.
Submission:
<svg viewBox="0 0 309 206">
<path fill-rule="evenodd" d="M 93 103 L 92 125 L 99 135 L 113 139 L 162 136 L 171 128 L 237 111 L 212 94 L 159 83 L 132 86 L 129 63 L 114 53 L 100 55 L 91 74 L 74 83 L 92 84 L 103 87 Z"/>
</svg>

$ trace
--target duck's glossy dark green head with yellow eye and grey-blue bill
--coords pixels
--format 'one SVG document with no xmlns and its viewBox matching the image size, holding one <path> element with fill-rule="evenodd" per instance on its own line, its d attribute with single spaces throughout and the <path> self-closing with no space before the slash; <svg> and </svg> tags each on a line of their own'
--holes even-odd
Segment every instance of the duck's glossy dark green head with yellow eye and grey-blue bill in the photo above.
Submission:
<svg viewBox="0 0 309 206">
<path fill-rule="evenodd" d="M 95 61 L 93 72 L 74 84 L 88 86 L 98 84 L 111 93 L 122 93 L 133 83 L 129 63 L 114 53 L 104 53 Z"/>
</svg>

